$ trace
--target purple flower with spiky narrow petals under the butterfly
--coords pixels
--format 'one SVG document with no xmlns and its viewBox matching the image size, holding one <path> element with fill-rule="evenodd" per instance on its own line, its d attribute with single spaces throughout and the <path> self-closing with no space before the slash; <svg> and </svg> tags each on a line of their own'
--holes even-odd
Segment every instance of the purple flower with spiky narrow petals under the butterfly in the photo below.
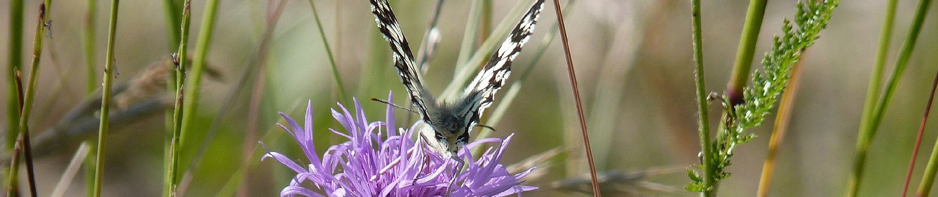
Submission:
<svg viewBox="0 0 938 197">
<path fill-rule="evenodd" d="M 391 97 L 388 96 L 388 101 Z M 280 196 L 444 196 L 449 180 L 454 176 L 455 161 L 442 158 L 425 146 L 416 146 L 412 140 L 419 123 L 410 129 L 394 125 L 393 107 L 387 106 L 386 121 L 369 122 L 355 101 L 355 116 L 339 105 L 341 112 L 332 110 L 344 133 L 331 130 L 349 141 L 334 145 L 323 154 L 316 155 L 312 143 L 311 103 L 307 106 L 305 125 L 280 113 L 289 128 L 281 124 L 287 133 L 294 136 L 303 149 L 310 164 L 303 166 L 278 152 L 268 152 L 265 158 L 274 158 L 286 165 L 296 176 L 290 186 L 280 191 Z M 384 133 L 384 134 L 382 134 Z M 534 170 L 528 169 L 511 175 L 499 162 L 511 141 L 487 138 L 470 143 L 461 149 L 458 156 L 467 166 L 456 177 L 452 185 L 452 196 L 506 196 L 537 187 L 522 186 L 522 177 Z M 479 157 L 473 157 L 468 148 L 493 143 Z M 493 149 L 494 148 L 494 149 Z M 425 157 L 426 156 L 426 157 Z M 423 162 L 423 169 L 418 169 Z M 419 175 L 418 175 L 419 171 Z"/>
</svg>

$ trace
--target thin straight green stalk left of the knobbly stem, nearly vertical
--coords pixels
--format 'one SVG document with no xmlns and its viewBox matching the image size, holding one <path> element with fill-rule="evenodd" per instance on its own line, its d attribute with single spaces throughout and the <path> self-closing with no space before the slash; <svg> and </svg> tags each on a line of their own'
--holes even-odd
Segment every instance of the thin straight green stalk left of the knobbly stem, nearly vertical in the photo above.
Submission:
<svg viewBox="0 0 938 197">
<path fill-rule="evenodd" d="M 104 87 L 101 89 L 101 112 L 100 124 L 98 126 L 98 148 L 95 162 L 95 190 L 92 193 L 94 197 L 101 196 L 101 180 L 104 175 L 104 148 L 107 146 L 108 121 L 111 111 L 111 86 L 113 85 L 114 72 L 114 41 L 117 34 L 117 7 L 120 0 L 111 0 L 111 20 L 108 25 L 108 49 L 107 59 L 104 60 Z"/>
</svg>

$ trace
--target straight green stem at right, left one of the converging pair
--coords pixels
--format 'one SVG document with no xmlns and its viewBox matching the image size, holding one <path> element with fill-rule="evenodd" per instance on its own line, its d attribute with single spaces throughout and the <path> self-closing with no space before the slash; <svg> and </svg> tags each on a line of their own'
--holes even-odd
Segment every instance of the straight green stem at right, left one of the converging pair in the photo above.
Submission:
<svg viewBox="0 0 938 197">
<path fill-rule="evenodd" d="M 883 27 L 880 29 L 879 46 L 876 48 L 876 64 L 870 74 L 870 84 L 867 86 L 866 103 L 863 105 L 863 112 L 860 117 L 860 128 L 856 137 L 856 151 L 854 156 L 854 170 L 848 183 L 847 196 L 856 196 L 860 187 L 860 180 L 863 176 L 863 166 L 866 163 L 867 151 L 870 148 L 872 139 L 872 121 L 870 117 L 876 107 L 876 98 L 880 94 L 880 86 L 883 81 L 883 68 L 888 57 L 889 43 L 892 38 L 893 23 L 896 21 L 896 5 L 899 0 L 888 0 L 885 7 L 885 17 Z"/>
</svg>

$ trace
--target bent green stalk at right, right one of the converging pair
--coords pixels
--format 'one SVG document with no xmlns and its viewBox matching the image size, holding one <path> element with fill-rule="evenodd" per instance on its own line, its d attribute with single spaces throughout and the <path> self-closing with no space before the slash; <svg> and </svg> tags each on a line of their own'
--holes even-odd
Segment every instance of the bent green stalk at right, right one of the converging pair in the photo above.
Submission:
<svg viewBox="0 0 938 197">
<path fill-rule="evenodd" d="M 902 77 L 902 72 L 905 71 L 905 67 L 907 63 L 909 63 L 909 58 L 912 57 L 912 51 L 915 49 L 915 42 L 918 40 L 919 33 L 921 33 L 922 24 L 924 23 L 925 17 L 928 14 L 930 4 L 930 0 L 922 0 L 919 2 L 915 11 L 915 21 L 912 22 L 912 27 L 909 28 L 909 35 L 906 37 L 905 43 L 902 44 L 899 60 L 896 62 L 896 67 L 892 75 L 886 82 L 885 91 L 883 92 L 882 97 L 880 97 L 877 101 L 876 107 L 871 112 L 870 119 L 862 120 L 863 122 L 861 122 L 860 134 L 857 136 L 856 142 L 856 152 L 853 166 L 854 169 L 848 183 L 849 188 L 847 190 L 847 196 L 856 196 L 860 190 L 860 184 L 862 184 L 863 180 L 863 168 L 866 164 L 870 143 L 872 142 L 873 136 L 876 135 L 876 132 L 879 129 L 879 125 L 882 122 L 883 116 L 885 114 L 885 110 L 887 106 L 889 106 L 889 101 L 892 100 L 892 95 L 896 91 L 896 86 L 899 84 L 899 81 Z"/>
</svg>

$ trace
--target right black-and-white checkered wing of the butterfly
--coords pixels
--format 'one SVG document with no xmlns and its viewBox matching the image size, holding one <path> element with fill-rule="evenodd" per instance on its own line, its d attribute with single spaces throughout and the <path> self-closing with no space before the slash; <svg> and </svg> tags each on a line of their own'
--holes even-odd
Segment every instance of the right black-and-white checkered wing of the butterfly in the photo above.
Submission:
<svg viewBox="0 0 938 197">
<path fill-rule="evenodd" d="M 529 39 L 534 33 L 534 27 L 537 24 L 537 17 L 540 16 L 540 10 L 543 8 L 544 0 L 537 2 L 528 9 L 521 21 L 511 31 L 511 34 L 502 42 L 501 47 L 495 50 L 489 63 L 485 63 L 482 70 L 479 71 L 476 78 L 469 83 L 469 88 L 465 90 L 465 103 L 471 104 L 464 112 L 465 117 L 469 119 L 470 126 L 478 123 L 479 117 L 485 108 L 492 106 L 495 99 L 495 91 L 498 91 L 505 85 L 508 75 L 511 74 L 511 62 L 515 60 Z"/>
</svg>

